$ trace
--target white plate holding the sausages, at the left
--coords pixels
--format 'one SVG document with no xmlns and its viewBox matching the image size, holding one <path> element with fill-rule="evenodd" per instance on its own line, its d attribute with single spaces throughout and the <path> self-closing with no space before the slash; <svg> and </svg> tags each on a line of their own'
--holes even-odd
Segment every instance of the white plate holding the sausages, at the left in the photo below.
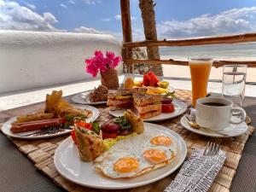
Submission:
<svg viewBox="0 0 256 192">
<path fill-rule="evenodd" d="M 95 121 L 99 115 L 100 115 L 100 112 L 98 109 L 96 108 L 93 108 L 89 105 L 73 105 L 75 108 L 83 108 L 83 109 L 89 109 L 90 111 L 92 111 L 92 116 L 90 118 L 87 118 L 86 119 L 86 122 L 90 122 L 90 121 Z M 61 131 L 61 132 L 56 132 L 54 134 L 49 134 L 49 135 L 43 135 L 43 136 L 22 136 L 24 134 L 29 134 L 29 133 L 32 133 L 32 132 L 35 132 L 35 131 L 29 131 L 29 132 L 22 132 L 22 133 L 13 133 L 12 131 L 10 131 L 10 128 L 11 128 L 11 124 L 15 121 L 16 117 L 12 118 L 12 119 L 9 119 L 8 121 L 6 121 L 4 124 L 3 124 L 3 127 L 2 127 L 2 132 L 9 136 L 9 137 L 15 137 L 15 138 L 21 138 L 21 139 L 42 139 L 42 138 L 49 138 L 49 137 L 56 137 L 56 136 L 61 136 L 61 135 L 64 135 L 64 134 L 67 134 L 69 133 L 70 131 L 72 130 L 65 130 L 65 131 Z"/>
</svg>

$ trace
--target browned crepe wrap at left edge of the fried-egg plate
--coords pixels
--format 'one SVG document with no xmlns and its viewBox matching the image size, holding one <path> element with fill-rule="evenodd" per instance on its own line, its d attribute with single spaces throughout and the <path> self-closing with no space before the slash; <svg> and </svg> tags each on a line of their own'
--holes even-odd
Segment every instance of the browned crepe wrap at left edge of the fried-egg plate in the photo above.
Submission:
<svg viewBox="0 0 256 192">
<path fill-rule="evenodd" d="M 104 152 L 102 138 L 95 134 L 83 133 L 75 126 L 75 135 L 78 142 L 80 159 L 83 161 L 92 161 Z"/>
</svg>

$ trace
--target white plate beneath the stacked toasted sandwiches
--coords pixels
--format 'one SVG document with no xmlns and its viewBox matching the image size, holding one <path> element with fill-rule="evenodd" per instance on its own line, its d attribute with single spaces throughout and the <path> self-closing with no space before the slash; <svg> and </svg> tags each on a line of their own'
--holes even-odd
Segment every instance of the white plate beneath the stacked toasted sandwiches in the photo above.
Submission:
<svg viewBox="0 0 256 192">
<path fill-rule="evenodd" d="M 175 118 L 182 113 L 184 113 L 187 110 L 187 105 L 184 102 L 181 102 L 177 99 L 173 99 L 172 103 L 174 104 L 175 111 L 172 113 L 160 113 L 157 116 L 154 116 L 149 119 L 143 119 L 146 122 L 155 122 L 155 121 L 160 121 L 160 120 L 166 120 L 166 119 L 172 119 Z M 108 108 L 108 113 L 112 114 L 114 117 L 119 117 L 123 116 L 123 113 L 126 111 L 126 109 L 120 109 L 120 110 L 115 110 L 111 111 Z"/>
</svg>

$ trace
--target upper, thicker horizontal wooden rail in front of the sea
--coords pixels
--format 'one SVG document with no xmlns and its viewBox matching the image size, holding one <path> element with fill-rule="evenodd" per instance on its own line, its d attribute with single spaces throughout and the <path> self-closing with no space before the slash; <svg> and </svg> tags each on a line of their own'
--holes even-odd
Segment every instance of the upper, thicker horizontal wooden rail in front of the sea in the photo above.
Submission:
<svg viewBox="0 0 256 192">
<path fill-rule="evenodd" d="M 247 33 L 240 35 L 209 37 L 209 38 L 187 38 L 177 40 L 162 40 L 162 41 L 140 41 L 134 43 L 125 43 L 126 48 L 135 47 L 154 47 L 154 46 L 191 46 L 191 45 L 205 45 L 205 44 L 238 44 L 256 42 L 256 33 Z"/>
</svg>

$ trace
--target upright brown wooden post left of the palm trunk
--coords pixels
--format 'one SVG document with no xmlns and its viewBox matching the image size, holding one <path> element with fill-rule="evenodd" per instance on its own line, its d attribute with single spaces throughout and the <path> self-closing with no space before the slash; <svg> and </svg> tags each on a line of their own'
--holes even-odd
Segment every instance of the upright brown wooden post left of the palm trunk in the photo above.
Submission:
<svg viewBox="0 0 256 192">
<path fill-rule="evenodd" d="M 123 28 L 123 43 L 132 43 L 130 0 L 120 0 L 120 9 Z M 124 60 L 124 69 L 126 67 L 127 73 L 133 73 L 133 65 L 125 63 L 125 59 L 132 58 L 132 49 L 123 47 L 122 56 Z"/>
</svg>

